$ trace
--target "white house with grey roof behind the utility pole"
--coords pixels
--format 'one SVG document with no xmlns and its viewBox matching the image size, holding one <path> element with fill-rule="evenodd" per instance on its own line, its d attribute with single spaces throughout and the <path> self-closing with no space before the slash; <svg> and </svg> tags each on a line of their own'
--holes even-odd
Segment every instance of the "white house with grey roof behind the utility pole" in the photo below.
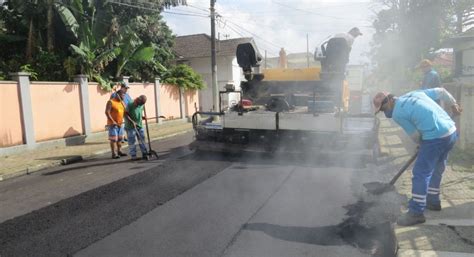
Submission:
<svg viewBox="0 0 474 257">
<path fill-rule="evenodd" d="M 224 90 L 227 83 L 235 85 L 240 90 L 240 81 L 243 80 L 242 69 L 236 58 L 237 45 L 253 43 L 252 38 L 235 38 L 217 40 L 217 83 L 219 90 Z M 197 73 L 201 74 L 207 85 L 206 89 L 199 92 L 199 109 L 209 111 L 212 109 L 212 79 L 211 79 L 211 37 L 206 34 L 196 34 L 176 37 L 174 52 L 176 63 L 187 64 Z M 238 94 L 229 94 L 228 99 L 223 99 L 224 106 L 239 101 Z"/>
</svg>

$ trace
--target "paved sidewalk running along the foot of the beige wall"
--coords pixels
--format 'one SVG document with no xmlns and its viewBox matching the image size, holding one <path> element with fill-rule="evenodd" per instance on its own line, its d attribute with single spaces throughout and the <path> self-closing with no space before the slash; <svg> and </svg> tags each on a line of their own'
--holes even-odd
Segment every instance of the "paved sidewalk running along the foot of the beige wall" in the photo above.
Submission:
<svg viewBox="0 0 474 257">
<path fill-rule="evenodd" d="M 150 139 L 158 140 L 183 134 L 192 130 L 192 124 L 187 121 L 168 121 L 164 124 L 150 124 Z M 127 143 L 124 144 L 127 147 Z M 110 151 L 109 141 L 105 132 L 96 133 L 81 145 L 55 146 L 24 151 L 19 154 L 0 156 L 0 181 L 22 176 L 44 168 L 61 165 L 62 159 L 72 156 L 82 156 L 84 159 Z"/>
</svg>

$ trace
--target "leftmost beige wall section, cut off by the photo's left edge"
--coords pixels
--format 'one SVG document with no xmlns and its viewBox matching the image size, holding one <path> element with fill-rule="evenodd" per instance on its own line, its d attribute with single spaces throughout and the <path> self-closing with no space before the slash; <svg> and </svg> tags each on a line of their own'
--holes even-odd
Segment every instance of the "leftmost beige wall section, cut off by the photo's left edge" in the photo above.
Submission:
<svg viewBox="0 0 474 257">
<path fill-rule="evenodd" d="M 0 147 L 23 143 L 18 84 L 0 81 Z"/>
</svg>

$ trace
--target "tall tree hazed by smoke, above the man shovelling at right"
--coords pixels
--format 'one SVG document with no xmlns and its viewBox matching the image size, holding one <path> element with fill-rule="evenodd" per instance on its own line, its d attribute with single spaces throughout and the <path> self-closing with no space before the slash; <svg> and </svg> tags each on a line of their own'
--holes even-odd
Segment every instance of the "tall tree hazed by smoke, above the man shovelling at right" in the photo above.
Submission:
<svg viewBox="0 0 474 257">
<path fill-rule="evenodd" d="M 412 87 L 413 68 L 451 34 L 452 3 L 443 0 L 379 0 L 371 57 L 375 74 L 397 89 Z"/>
</svg>

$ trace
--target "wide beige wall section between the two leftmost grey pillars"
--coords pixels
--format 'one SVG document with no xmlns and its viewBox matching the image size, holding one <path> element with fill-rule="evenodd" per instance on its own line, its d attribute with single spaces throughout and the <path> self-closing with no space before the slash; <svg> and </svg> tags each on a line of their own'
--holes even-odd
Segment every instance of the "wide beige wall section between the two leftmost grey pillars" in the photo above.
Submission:
<svg viewBox="0 0 474 257">
<path fill-rule="evenodd" d="M 83 133 L 79 84 L 36 82 L 30 92 L 36 141 Z"/>
</svg>

